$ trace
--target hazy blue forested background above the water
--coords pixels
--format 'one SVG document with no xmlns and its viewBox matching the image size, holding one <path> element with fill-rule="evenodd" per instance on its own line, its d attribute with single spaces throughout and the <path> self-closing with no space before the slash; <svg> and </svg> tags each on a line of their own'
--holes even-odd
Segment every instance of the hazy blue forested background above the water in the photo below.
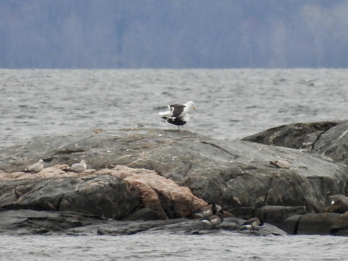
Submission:
<svg viewBox="0 0 348 261">
<path fill-rule="evenodd" d="M 1 0 L 0 68 L 347 68 L 347 0 Z"/>
</svg>

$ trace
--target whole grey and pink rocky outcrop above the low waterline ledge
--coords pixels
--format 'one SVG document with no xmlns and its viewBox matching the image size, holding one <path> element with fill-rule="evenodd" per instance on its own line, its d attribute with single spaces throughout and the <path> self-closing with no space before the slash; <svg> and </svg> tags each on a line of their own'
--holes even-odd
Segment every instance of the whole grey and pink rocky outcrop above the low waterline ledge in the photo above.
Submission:
<svg viewBox="0 0 348 261">
<path fill-rule="evenodd" d="M 146 128 L 38 138 L 0 151 L 0 169 L 11 173 L 2 173 L 7 181 L 0 184 L 0 203 L 7 209 L 40 206 L 40 210 L 78 209 L 102 217 L 115 212 L 112 218 L 149 220 L 189 217 L 206 202 L 216 202 L 224 210 L 232 209 L 237 217 L 260 216 L 282 227 L 282 220 L 294 214 L 322 212 L 329 196 L 346 195 L 347 167 L 325 155 L 307 153 L 314 151 L 324 134 L 344 122 L 274 128 L 263 138 L 273 135 L 268 139 L 272 145 Z M 345 137 L 342 135 L 340 140 Z M 46 167 L 42 172 L 18 172 L 40 158 Z M 67 166 L 62 164 L 71 165 L 81 159 L 87 161 L 85 172 L 61 172 L 61 167 Z M 277 160 L 288 161 L 290 167 L 270 164 Z M 54 178 L 49 176 L 53 172 Z M 98 187 L 98 193 L 108 195 L 112 211 L 100 206 L 95 213 L 88 208 L 90 204 L 104 204 L 98 201 L 101 198 L 91 196 L 93 186 Z M 120 186 L 128 192 L 119 192 Z M 116 208 L 128 209 L 120 205 L 127 195 L 134 197 L 129 205 L 132 210 L 117 213 Z M 90 200 L 88 204 L 85 197 Z M 113 201 L 116 204 L 112 205 Z"/>
</svg>

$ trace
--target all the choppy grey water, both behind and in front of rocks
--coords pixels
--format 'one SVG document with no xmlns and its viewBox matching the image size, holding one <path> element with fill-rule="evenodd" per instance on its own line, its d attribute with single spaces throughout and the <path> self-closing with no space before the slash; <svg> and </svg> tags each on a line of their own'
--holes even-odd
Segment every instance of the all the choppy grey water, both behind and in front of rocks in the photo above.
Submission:
<svg viewBox="0 0 348 261">
<path fill-rule="evenodd" d="M 0 70 L 0 148 L 94 128 L 173 128 L 232 140 L 293 122 L 348 119 L 346 69 Z M 0 260 L 346 260 L 345 237 L 0 236 Z M 203 254 L 203 255 L 200 255 Z"/>
</svg>

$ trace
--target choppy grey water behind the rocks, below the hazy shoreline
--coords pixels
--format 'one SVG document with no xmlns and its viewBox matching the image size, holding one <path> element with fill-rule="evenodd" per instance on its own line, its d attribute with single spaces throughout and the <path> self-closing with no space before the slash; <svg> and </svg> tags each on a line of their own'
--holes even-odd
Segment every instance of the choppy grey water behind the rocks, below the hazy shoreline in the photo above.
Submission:
<svg viewBox="0 0 348 261">
<path fill-rule="evenodd" d="M 183 129 L 232 140 L 293 122 L 347 119 L 346 69 L 0 70 L 0 148 L 94 128 L 172 128 L 158 112 L 194 101 Z"/>
</svg>

